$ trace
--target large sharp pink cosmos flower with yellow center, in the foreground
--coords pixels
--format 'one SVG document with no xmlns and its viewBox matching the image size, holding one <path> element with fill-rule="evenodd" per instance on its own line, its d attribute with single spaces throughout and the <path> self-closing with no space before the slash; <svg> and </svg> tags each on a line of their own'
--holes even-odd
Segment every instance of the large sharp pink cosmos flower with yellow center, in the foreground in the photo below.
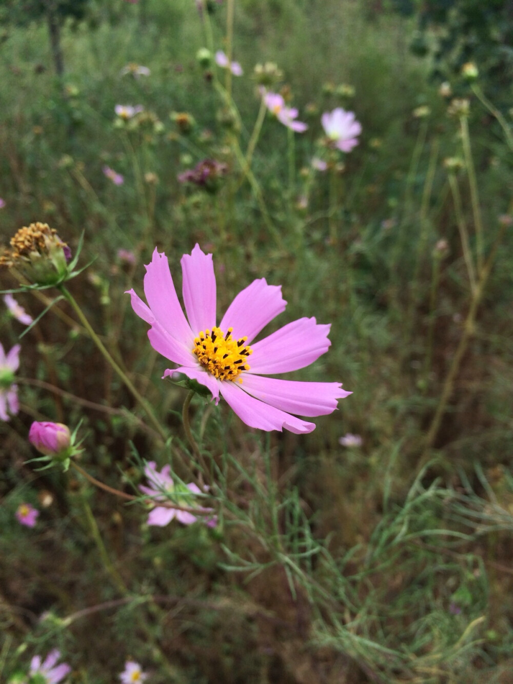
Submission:
<svg viewBox="0 0 513 684">
<path fill-rule="evenodd" d="M 179 367 L 164 373 L 183 373 L 205 385 L 216 404 L 220 394 L 239 418 L 260 430 L 311 432 L 314 423 L 302 416 L 321 416 L 337 408 L 337 399 L 350 392 L 339 382 L 296 382 L 265 378 L 267 373 L 296 371 L 313 363 L 330 346 L 329 325 L 300 318 L 254 343 L 261 330 L 287 302 L 281 287 L 254 280 L 228 306 L 216 327 L 215 275 L 211 254 L 196 244 L 181 260 L 185 317 L 174 289 L 166 254 L 153 252 L 146 266 L 144 293 L 148 305 L 131 289 L 135 313 L 150 324 L 153 348 Z M 188 320 L 187 320 L 188 319 Z M 251 346 L 250 346 L 251 345 Z"/>
</svg>

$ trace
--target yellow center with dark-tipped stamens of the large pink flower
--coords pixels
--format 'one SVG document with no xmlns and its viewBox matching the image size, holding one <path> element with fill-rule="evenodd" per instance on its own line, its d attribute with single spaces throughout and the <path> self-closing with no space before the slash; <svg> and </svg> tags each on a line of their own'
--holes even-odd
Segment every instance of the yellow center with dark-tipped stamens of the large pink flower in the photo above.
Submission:
<svg viewBox="0 0 513 684">
<path fill-rule="evenodd" d="M 212 332 L 207 329 L 194 338 L 192 352 L 196 354 L 202 367 L 219 380 L 235 380 L 242 371 L 250 369 L 246 360 L 253 350 L 244 345 L 248 338 L 235 340 L 232 332 L 233 328 L 228 328 L 225 335 L 220 328 L 214 326 Z M 242 382 L 242 378 L 237 382 Z"/>
</svg>

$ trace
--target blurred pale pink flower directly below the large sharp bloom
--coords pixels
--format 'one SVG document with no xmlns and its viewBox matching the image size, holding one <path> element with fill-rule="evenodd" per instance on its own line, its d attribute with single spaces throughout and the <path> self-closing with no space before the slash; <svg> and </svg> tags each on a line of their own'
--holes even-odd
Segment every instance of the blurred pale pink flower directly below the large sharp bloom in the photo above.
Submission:
<svg viewBox="0 0 513 684">
<path fill-rule="evenodd" d="M 195 496 L 201 494 L 200 488 L 190 482 L 189 484 L 174 484 L 172 477 L 169 474 L 170 466 L 163 466 L 163 469 L 157 471 L 157 464 L 155 461 L 150 461 L 146 464 L 144 475 L 148 478 L 149 487 L 140 485 L 139 488 L 144 494 L 152 497 L 153 501 L 167 501 L 174 503 L 180 508 L 193 508 L 198 513 L 210 513 L 211 508 L 203 508 L 195 505 Z M 148 525 L 158 525 L 163 527 L 168 525 L 174 518 L 183 525 L 192 525 L 197 520 L 204 521 L 209 527 L 213 527 L 217 522 L 215 516 L 196 516 L 189 511 L 180 510 L 180 508 L 171 508 L 170 506 L 157 505 L 148 515 Z"/>
</svg>

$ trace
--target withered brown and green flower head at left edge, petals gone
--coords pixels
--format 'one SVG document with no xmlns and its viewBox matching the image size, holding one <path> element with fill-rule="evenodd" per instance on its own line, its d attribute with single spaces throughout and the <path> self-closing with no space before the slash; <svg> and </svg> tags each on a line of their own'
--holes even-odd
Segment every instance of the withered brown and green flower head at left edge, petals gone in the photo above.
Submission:
<svg viewBox="0 0 513 684">
<path fill-rule="evenodd" d="M 69 275 L 71 250 L 46 223 L 23 226 L 11 238 L 10 246 L 0 256 L 0 265 L 16 267 L 29 282 L 54 285 Z"/>
</svg>

